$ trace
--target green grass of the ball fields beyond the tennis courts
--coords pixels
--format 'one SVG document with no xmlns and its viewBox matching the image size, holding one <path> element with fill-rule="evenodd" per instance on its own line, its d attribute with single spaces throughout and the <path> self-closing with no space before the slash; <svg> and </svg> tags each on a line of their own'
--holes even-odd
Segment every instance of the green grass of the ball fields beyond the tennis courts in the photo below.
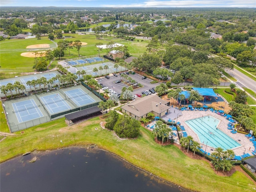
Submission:
<svg viewBox="0 0 256 192">
<path fill-rule="evenodd" d="M 66 40 L 80 40 L 81 42 L 86 42 L 86 46 L 82 46 L 79 53 L 82 56 L 95 56 L 98 55 L 98 48 L 95 46 L 96 43 L 101 42 L 102 44 L 108 44 L 110 41 L 118 42 L 128 46 L 128 52 L 133 56 L 140 56 L 146 51 L 147 41 L 126 41 L 124 39 L 117 39 L 112 37 L 104 37 L 102 40 L 96 39 L 95 35 L 80 35 L 80 34 L 63 34 L 63 36 L 69 36 L 71 38 L 66 38 Z M 55 39 L 54 42 L 57 43 L 62 39 Z M 4 40 L 0 42 L 0 63 L 1 63 L 1 74 L 0 79 L 13 78 L 14 76 L 20 76 L 22 72 L 32 72 L 34 69 L 34 58 L 23 57 L 20 54 L 23 52 L 28 52 L 26 48 L 29 45 L 34 44 L 50 44 L 51 48 L 56 47 L 54 42 L 48 39 L 48 36 L 42 36 L 40 40 L 36 38 L 32 39 L 17 39 L 17 40 Z M 48 48 L 42 48 L 38 51 L 47 50 Z M 35 50 L 30 50 L 35 52 Z M 105 55 L 106 49 L 100 52 L 100 55 Z M 72 59 L 78 57 L 78 51 L 76 48 L 70 49 L 70 55 L 68 50 L 61 60 Z M 52 63 L 50 69 L 54 68 L 58 64 L 58 58 Z"/>
</svg>

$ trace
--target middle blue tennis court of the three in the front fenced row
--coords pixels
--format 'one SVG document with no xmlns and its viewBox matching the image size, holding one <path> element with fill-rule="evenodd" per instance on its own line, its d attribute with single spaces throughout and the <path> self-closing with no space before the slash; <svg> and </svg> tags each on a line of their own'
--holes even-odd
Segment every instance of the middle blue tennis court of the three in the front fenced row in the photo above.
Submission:
<svg viewBox="0 0 256 192">
<path fill-rule="evenodd" d="M 43 105 L 46 106 L 50 114 L 71 109 L 71 107 L 59 94 L 43 96 L 43 97 L 40 97 L 40 100 L 43 102 Z"/>
</svg>

